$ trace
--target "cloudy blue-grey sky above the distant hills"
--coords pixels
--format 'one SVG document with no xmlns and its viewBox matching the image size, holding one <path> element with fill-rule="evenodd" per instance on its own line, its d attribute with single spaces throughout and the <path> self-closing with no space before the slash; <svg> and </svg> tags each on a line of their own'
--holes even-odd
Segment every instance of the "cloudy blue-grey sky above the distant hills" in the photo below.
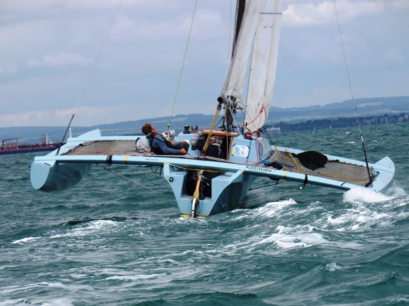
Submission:
<svg viewBox="0 0 409 306">
<path fill-rule="evenodd" d="M 194 0 L 123 0 L 114 20 L 119 3 L 0 1 L 0 127 L 64 126 L 75 109 L 83 126 L 170 116 Z M 235 4 L 198 0 L 174 115 L 214 114 Z M 336 6 L 353 96 L 409 95 L 409 0 Z M 272 106 L 350 99 L 333 1 L 282 11 Z"/>
</svg>

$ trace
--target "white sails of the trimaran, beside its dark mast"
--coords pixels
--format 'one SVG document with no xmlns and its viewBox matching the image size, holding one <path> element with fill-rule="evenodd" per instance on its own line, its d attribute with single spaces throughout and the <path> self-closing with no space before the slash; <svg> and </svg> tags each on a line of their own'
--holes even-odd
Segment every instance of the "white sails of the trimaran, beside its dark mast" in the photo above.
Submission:
<svg viewBox="0 0 409 306">
<path fill-rule="evenodd" d="M 245 119 L 250 130 L 261 127 L 268 115 L 276 75 L 280 19 L 280 0 L 237 2 L 232 59 L 221 98 L 228 105 L 229 101 L 234 105 L 243 101 L 249 61 L 253 58 Z"/>
</svg>

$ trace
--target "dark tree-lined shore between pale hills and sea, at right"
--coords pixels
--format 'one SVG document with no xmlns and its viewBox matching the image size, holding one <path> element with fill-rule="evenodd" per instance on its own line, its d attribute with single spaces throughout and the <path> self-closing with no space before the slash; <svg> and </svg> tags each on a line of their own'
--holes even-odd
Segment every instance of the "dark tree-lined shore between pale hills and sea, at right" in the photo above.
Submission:
<svg viewBox="0 0 409 306">
<path fill-rule="evenodd" d="M 358 117 L 358 121 L 361 125 L 377 125 L 408 122 L 409 118 L 405 113 L 400 113 L 399 115 L 384 114 L 383 116 Z M 348 126 L 356 126 L 355 117 L 338 119 L 317 119 L 299 123 L 285 123 L 283 121 L 280 121 L 280 123 L 277 124 L 265 125 L 266 129 L 268 129 L 269 127 L 280 127 L 282 131 L 320 130 Z"/>
</svg>

